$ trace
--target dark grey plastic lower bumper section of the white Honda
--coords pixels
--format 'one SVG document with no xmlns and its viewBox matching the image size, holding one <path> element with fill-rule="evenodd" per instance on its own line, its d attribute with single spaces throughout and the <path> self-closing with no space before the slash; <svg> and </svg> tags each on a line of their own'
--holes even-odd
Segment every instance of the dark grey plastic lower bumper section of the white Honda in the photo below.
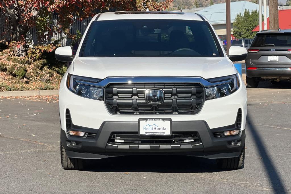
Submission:
<svg viewBox="0 0 291 194">
<path fill-rule="evenodd" d="M 240 155 L 245 144 L 245 130 L 238 135 L 214 138 L 213 132 L 237 129 L 235 125 L 210 129 L 205 121 L 173 121 L 172 133 L 197 132 L 200 142 L 182 144 L 124 144 L 111 143 L 109 138 L 117 133 L 137 133 L 136 121 L 104 121 L 99 129 L 73 126 L 74 130 L 95 133 L 95 138 L 72 137 L 61 130 L 61 142 L 70 158 L 100 159 L 125 155 L 188 155 L 205 158 L 231 158 Z M 237 140 L 237 145 L 231 142 Z M 71 146 L 70 142 L 76 142 Z"/>
</svg>

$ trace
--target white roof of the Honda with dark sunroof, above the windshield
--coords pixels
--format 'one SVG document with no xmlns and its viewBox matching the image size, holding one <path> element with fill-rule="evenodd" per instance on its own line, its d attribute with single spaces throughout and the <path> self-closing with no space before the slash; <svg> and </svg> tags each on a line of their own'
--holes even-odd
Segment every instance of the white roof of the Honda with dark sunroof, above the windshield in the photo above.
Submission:
<svg viewBox="0 0 291 194">
<path fill-rule="evenodd" d="M 172 11 L 119 11 L 106 12 L 95 17 L 95 20 L 130 20 L 130 19 L 170 19 L 170 20 L 197 20 L 205 18 L 197 13 L 184 13 Z"/>
</svg>

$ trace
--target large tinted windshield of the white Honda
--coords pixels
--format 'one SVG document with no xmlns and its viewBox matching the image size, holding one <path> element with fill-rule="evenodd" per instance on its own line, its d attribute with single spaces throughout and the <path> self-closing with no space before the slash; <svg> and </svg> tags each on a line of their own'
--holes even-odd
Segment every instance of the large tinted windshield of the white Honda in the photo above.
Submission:
<svg viewBox="0 0 291 194">
<path fill-rule="evenodd" d="M 212 34 L 205 21 L 95 21 L 81 57 L 220 57 Z"/>
</svg>

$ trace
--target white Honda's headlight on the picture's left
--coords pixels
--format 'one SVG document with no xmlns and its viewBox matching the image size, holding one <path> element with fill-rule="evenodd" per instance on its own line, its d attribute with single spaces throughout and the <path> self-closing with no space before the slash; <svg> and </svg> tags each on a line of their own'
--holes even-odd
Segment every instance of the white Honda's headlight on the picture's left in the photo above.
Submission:
<svg viewBox="0 0 291 194">
<path fill-rule="evenodd" d="M 103 88 L 93 86 L 94 83 L 99 81 L 100 79 L 68 74 L 67 87 L 71 92 L 79 96 L 103 100 Z"/>
</svg>

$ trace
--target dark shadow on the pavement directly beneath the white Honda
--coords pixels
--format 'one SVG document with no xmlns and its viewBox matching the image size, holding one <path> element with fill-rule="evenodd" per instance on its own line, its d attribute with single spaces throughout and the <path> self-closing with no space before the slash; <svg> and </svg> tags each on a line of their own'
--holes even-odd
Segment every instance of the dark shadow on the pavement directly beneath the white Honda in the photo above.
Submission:
<svg viewBox="0 0 291 194">
<path fill-rule="evenodd" d="M 220 172 L 215 159 L 193 156 L 119 156 L 87 161 L 87 171 L 95 172 Z"/>
</svg>

